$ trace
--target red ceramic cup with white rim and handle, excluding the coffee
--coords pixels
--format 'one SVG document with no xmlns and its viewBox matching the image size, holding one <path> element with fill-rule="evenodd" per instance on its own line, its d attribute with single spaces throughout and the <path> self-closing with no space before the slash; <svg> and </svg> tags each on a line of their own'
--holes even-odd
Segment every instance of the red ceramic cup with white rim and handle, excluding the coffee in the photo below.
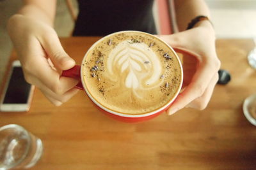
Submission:
<svg viewBox="0 0 256 170">
<path fill-rule="evenodd" d="M 115 32 L 113 34 L 120 34 L 120 33 L 125 33 L 125 32 L 139 32 L 139 31 L 121 31 L 121 32 Z M 141 34 L 147 34 L 145 32 L 140 32 Z M 95 46 L 97 46 L 101 41 L 103 41 L 104 39 L 106 40 L 106 38 L 109 38 L 109 36 L 113 36 L 113 34 L 109 34 L 108 36 L 105 36 L 101 39 L 99 39 L 97 42 L 95 42 L 91 48 L 86 52 L 86 54 L 84 55 L 82 64 L 85 62 L 86 57 L 88 56 L 88 53 L 90 52 L 90 50 L 92 50 Z M 148 34 L 149 36 L 153 36 L 151 34 Z M 155 37 L 157 38 L 157 37 Z M 159 38 L 157 38 L 159 39 Z M 93 102 L 93 104 L 100 110 L 102 111 L 104 114 L 106 114 L 108 117 L 114 118 L 116 120 L 120 120 L 122 122 L 143 122 L 145 120 L 150 120 L 151 118 L 157 117 L 158 115 L 160 115 L 161 113 L 163 113 L 164 111 L 166 111 L 170 105 L 173 103 L 173 101 L 175 101 L 176 97 L 178 96 L 180 89 L 182 87 L 182 81 L 183 81 L 183 71 L 182 71 L 182 64 L 179 60 L 179 57 L 177 56 L 177 54 L 175 53 L 175 51 L 173 50 L 173 48 L 171 46 L 169 46 L 167 43 L 165 43 L 163 40 L 159 39 L 160 41 L 162 41 L 165 45 L 167 45 L 170 50 L 174 53 L 175 57 L 177 57 L 177 60 L 179 62 L 180 65 L 180 69 L 181 69 L 181 80 L 180 80 L 180 84 L 179 84 L 179 89 L 177 90 L 177 92 L 175 93 L 175 96 L 172 97 L 172 99 L 164 104 L 163 107 L 151 111 L 149 113 L 145 113 L 145 114 L 140 114 L 140 115 L 131 115 L 131 114 L 124 114 L 124 113 L 118 113 L 116 111 L 113 110 L 109 110 L 108 108 L 102 106 L 102 104 L 98 103 L 91 95 L 90 92 L 88 92 L 88 89 L 86 89 L 86 85 L 83 82 L 83 77 L 81 75 L 83 75 L 83 71 L 81 69 L 81 66 L 74 66 L 71 69 L 68 69 L 66 71 L 63 71 L 63 73 L 61 74 L 61 76 L 65 76 L 65 77 L 70 77 L 70 78 L 76 78 L 79 79 L 79 83 L 77 83 L 76 88 L 80 89 L 80 90 L 84 90 L 86 92 L 86 95 L 89 97 L 89 99 Z M 181 52 L 181 50 L 179 50 L 179 52 Z"/>
</svg>

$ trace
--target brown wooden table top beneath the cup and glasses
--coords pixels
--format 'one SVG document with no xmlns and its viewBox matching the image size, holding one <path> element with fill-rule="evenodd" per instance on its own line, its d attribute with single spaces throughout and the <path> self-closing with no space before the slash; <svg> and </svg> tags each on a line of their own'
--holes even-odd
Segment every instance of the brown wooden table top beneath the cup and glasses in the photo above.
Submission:
<svg viewBox="0 0 256 170">
<path fill-rule="evenodd" d="M 80 63 L 97 39 L 61 43 Z M 42 139 L 44 155 L 32 169 L 256 169 L 256 127 L 242 110 L 256 93 L 256 71 L 246 59 L 253 41 L 218 39 L 216 46 L 232 81 L 216 86 L 204 111 L 125 124 L 100 113 L 84 92 L 55 107 L 36 89 L 31 110 L 0 113 L 0 126 L 19 124 Z"/>
</svg>

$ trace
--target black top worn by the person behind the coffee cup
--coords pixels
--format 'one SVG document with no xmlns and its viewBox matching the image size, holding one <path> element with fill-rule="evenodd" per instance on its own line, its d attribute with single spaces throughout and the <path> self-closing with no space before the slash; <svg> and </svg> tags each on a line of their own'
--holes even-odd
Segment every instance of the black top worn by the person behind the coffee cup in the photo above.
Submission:
<svg viewBox="0 0 256 170">
<path fill-rule="evenodd" d="M 156 34 L 154 0 L 77 0 L 79 15 L 73 36 L 106 36 L 134 30 Z"/>
</svg>

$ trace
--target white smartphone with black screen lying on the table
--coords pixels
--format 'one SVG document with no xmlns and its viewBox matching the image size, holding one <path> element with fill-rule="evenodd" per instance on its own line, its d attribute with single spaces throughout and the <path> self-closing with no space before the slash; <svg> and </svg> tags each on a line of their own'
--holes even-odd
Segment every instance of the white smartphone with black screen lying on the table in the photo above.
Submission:
<svg viewBox="0 0 256 170">
<path fill-rule="evenodd" d="M 26 82 L 19 60 L 14 60 L 1 95 L 1 111 L 29 111 L 35 87 Z"/>
</svg>

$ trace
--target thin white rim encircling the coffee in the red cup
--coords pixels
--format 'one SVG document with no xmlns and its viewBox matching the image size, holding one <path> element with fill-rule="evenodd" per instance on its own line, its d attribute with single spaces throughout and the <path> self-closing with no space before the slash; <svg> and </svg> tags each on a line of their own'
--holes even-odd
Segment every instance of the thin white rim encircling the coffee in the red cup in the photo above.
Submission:
<svg viewBox="0 0 256 170">
<path fill-rule="evenodd" d="M 177 90 L 177 92 L 175 93 L 175 95 L 172 97 L 172 99 L 164 104 L 164 106 L 162 106 L 161 108 L 157 109 L 157 110 L 154 110 L 154 111 L 150 111 L 148 113 L 141 113 L 141 114 L 125 114 L 125 113 L 120 113 L 120 112 L 117 112 L 117 111 L 113 111 L 113 110 L 109 110 L 108 108 L 102 106 L 102 104 L 98 103 L 91 95 L 90 95 L 90 92 L 88 92 L 87 88 L 86 88 L 86 85 L 83 81 L 83 67 L 81 67 L 80 69 L 80 74 L 81 74 L 81 82 L 83 84 L 83 88 L 87 94 L 87 96 L 93 101 L 93 103 L 95 103 L 99 108 L 101 108 L 102 110 L 104 111 L 107 111 L 108 113 L 111 113 L 113 115 L 117 115 L 117 116 L 120 116 L 120 117 L 130 117 L 130 118 L 136 118 L 136 117 L 148 117 L 150 115 L 154 115 L 156 113 L 159 113 L 160 111 L 163 111 L 163 110 L 166 110 L 166 108 L 168 108 L 170 106 L 170 104 L 173 103 L 173 101 L 177 98 L 180 90 L 181 90 L 181 87 L 182 87 L 182 83 L 183 83 L 183 69 L 182 69 L 182 64 L 180 62 L 180 59 L 177 55 L 177 53 L 175 52 L 175 50 L 173 50 L 173 48 L 168 45 L 168 43 L 164 42 L 162 39 L 158 38 L 157 36 L 154 36 L 152 34 L 148 34 L 147 32 L 142 32 L 142 31 L 118 31 L 118 32 L 113 32 L 112 34 L 108 34 L 107 36 L 104 36 L 102 38 L 100 38 L 98 41 L 96 41 L 95 43 L 93 43 L 93 45 L 87 50 L 87 52 L 85 53 L 84 57 L 83 57 L 83 60 L 81 62 L 81 66 L 83 66 L 83 63 L 84 63 L 84 60 L 86 59 L 86 56 L 88 55 L 88 53 L 102 40 L 104 39 L 107 39 L 109 38 L 109 36 L 113 36 L 113 34 L 122 34 L 122 33 L 125 33 L 125 32 L 135 32 L 135 33 L 140 33 L 140 34 L 147 34 L 148 36 L 153 36 L 154 38 L 158 39 L 159 41 L 163 42 L 165 45 L 167 45 L 170 50 L 173 52 L 173 54 L 175 55 L 176 59 L 178 60 L 179 62 L 179 66 L 180 66 L 180 84 L 179 84 L 179 88 Z"/>
</svg>

